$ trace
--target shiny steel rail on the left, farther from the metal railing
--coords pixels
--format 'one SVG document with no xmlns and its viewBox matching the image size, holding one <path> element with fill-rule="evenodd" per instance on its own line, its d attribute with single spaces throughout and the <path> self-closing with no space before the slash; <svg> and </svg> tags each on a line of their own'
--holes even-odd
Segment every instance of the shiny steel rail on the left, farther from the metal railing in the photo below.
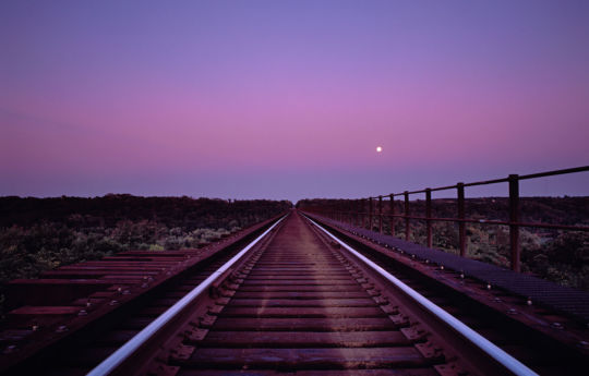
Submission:
<svg viewBox="0 0 589 376">
<path fill-rule="evenodd" d="M 161 330 L 170 320 L 172 320 L 177 315 L 182 313 L 182 311 L 197 299 L 203 292 L 206 292 L 207 289 L 213 284 L 213 282 L 219 278 L 225 271 L 227 271 L 233 264 L 236 264 L 248 251 L 250 251 L 262 238 L 264 238 L 268 232 L 272 231 L 286 216 L 281 217 L 271 226 L 264 233 L 257 236 L 254 241 L 248 244 L 243 250 L 241 250 L 237 255 L 231 257 L 227 263 L 225 263 L 216 271 L 213 271 L 208 278 L 196 286 L 189 293 L 187 293 L 181 300 L 179 300 L 175 305 L 169 307 L 166 312 L 159 315 L 154 319 L 149 325 L 147 325 L 143 330 L 136 333 L 133 338 L 127 341 L 122 347 L 115 351 L 110 356 L 98 364 L 94 369 L 86 374 L 86 376 L 105 376 L 115 372 L 125 360 L 128 360 L 135 351 L 137 351 L 144 343 L 146 343 L 151 338 L 153 338 L 159 330 Z"/>
</svg>

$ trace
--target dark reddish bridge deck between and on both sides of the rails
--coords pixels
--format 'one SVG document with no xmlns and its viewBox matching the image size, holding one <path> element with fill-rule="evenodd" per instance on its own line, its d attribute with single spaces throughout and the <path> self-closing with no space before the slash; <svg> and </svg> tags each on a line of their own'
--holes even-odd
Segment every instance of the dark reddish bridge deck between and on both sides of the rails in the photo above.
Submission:
<svg viewBox="0 0 589 376">
<path fill-rule="evenodd" d="M 410 295 L 399 293 L 398 288 L 386 282 L 390 279 L 381 278 L 383 275 L 376 274 L 369 264 L 358 263 L 359 254 L 353 256 L 346 252 L 347 245 L 334 243 L 298 211 L 292 211 L 275 230 L 268 230 L 256 245 L 248 245 L 241 251 L 269 223 L 261 223 L 257 230 L 225 247 L 218 244 L 211 250 L 185 251 L 185 254 L 158 253 L 158 257 L 152 253 L 129 252 L 108 260 L 88 262 L 50 272 L 50 287 L 55 291 L 62 286 L 77 286 L 68 283 L 72 278 L 74 282 L 75 278 L 115 278 L 108 279 L 112 283 L 108 290 L 91 286 L 88 291 L 65 291 L 60 296 L 46 294 L 51 299 L 59 298 L 61 304 L 45 304 L 38 298 L 43 294 L 19 294 L 23 300 L 21 306 L 8 315 L 11 318 L 8 324 L 16 326 L 9 325 L 3 331 L 0 328 L 0 344 L 4 344 L 0 369 L 8 369 L 12 375 L 85 375 L 109 354 L 118 352 L 149 323 L 159 319 L 158 315 L 183 300 L 187 292 L 200 289 L 203 281 L 215 276 L 236 254 L 249 250 L 226 269 L 231 272 L 219 271 L 220 276 L 201 289 L 203 293 L 185 306 L 172 324 L 144 342 L 136 357 L 130 355 L 125 369 L 144 364 L 145 369 L 165 366 L 177 369 L 178 375 L 191 376 L 434 375 L 450 367 L 458 369 L 457 373 L 476 369 L 477 374 L 503 374 L 495 360 L 472 347 L 471 342 L 462 341 L 454 328 L 441 325 L 438 317 L 431 316 Z M 333 221 L 329 226 L 345 228 L 344 223 Z M 510 286 L 505 286 L 508 283 L 505 280 L 503 284 L 497 282 L 497 276 L 529 277 L 392 236 L 349 227 L 347 230 L 443 264 L 447 269 L 464 270 L 471 277 L 478 271 L 479 279 L 506 290 Z M 353 239 L 348 240 L 356 246 Z M 565 323 L 560 328 L 551 325 L 554 320 L 546 320 L 541 328 L 521 325 L 507 310 L 519 307 L 518 304 L 524 303 L 519 298 L 505 298 L 505 301 L 517 302 L 501 303 L 505 308 L 497 311 L 485 303 L 479 304 L 477 296 L 461 293 L 460 287 L 457 290 L 441 289 L 440 279 L 423 278 L 420 274 L 421 269 L 428 269 L 436 277 L 448 275 L 448 279 L 461 286 L 462 281 L 456 281 L 454 272 L 425 264 L 422 268 L 411 258 L 398 257 L 364 240 L 361 242 L 369 245 L 359 247 L 361 252 L 383 255 L 376 257 L 378 263 L 384 259 L 381 265 L 416 267 L 418 272 L 410 269 L 407 274 L 404 274 L 405 268 L 398 268 L 396 278 L 536 372 L 585 375 L 589 357 L 579 343 L 587 343 L 586 331 L 569 330 L 567 320 L 561 320 L 564 317 L 556 317 L 560 323 Z M 199 260 L 191 264 L 193 258 Z M 170 270 L 175 265 L 177 268 Z M 137 274 L 140 270 L 146 271 L 145 275 Z M 156 270 L 159 274 L 152 274 Z M 176 272 L 173 279 L 172 271 Z M 100 277 L 103 274 L 105 276 Z M 136 276 L 143 278 L 136 279 Z M 532 281 L 536 290 L 538 286 L 541 289 L 539 282 L 544 283 L 538 279 Z M 20 281 L 14 286 L 28 289 L 31 283 Z M 497 295 L 497 291 L 486 291 L 477 281 L 468 283 L 483 290 L 486 298 Z M 46 289 L 48 283 L 39 286 Z M 504 295 L 502 291 L 498 294 Z M 25 302 L 26 296 L 29 300 Z M 534 299 L 536 295 L 525 296 Z M 586 302 L 587 299 L 579 298 L 576 303 Z M 549 315 L 553 317 L 554 312 L 550 311 Z M 518 317 L 521 316 L 525 315 Z M 98 327 L 100 330 L 96 329 Z M 545 328 L 558 335 L 546 333 Z M 23 329 L 26 329 L 25 333 Z M 152 364 L 144 360 L 156 361 Z M 139 367 L 135 373 L 145 369 Z"/>
</svg>

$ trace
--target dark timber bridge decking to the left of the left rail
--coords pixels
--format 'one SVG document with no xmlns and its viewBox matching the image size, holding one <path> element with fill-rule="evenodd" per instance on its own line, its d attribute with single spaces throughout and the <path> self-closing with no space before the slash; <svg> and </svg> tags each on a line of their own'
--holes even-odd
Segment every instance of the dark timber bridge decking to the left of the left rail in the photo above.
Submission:
<svg viewBox="0 0 589 376">
<path fill-rule="evenodd" d="M 199 250 L 121 252 L 11 281 L 0 374 L 85 375 L 277 219 Z"/>
</svg>

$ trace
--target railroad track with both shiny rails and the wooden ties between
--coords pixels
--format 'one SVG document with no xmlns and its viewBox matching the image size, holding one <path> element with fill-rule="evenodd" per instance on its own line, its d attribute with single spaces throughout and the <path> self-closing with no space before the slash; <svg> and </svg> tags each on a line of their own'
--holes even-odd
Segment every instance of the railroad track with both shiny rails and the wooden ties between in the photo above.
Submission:
<svg viewBox="0 0 589 376">
<path fill-rule="evenodd" d="M 235 271 L 230 282 L 233 286 L 215 302 L 209 316 L 199 318 L 193 315 L 191 319 L 184 319 L 199 328 L 189 329 L 191 325 L 185 325 L 177 329 L 184 333 L 183 338 L 172 339 L 166 345 L 170 348 L 167 356 L 159 355 L 168 360 L 167 364 L 154 362 L 147 369 L 157 374 L 158 369 L 169 371 L 168 367 L 172 366 L 177 367 L 173 372 L 178 374 L 230 375 L 287 371 L 317 374 L 326 369 L 363 374 L 364 368 L 370 368 L 381 373 L 410 371 L 411 374 L 428 375 L 435 369 L 442 373 L 452 369 L 454 374 L 459 374 L 471 368 L 471 373 L 481 375 L 509 372 L 515 375 L 534 375 L 530 368 L 338 241 L 325 229 L 311 223 L 336 240 L 336 244 L 344 245 L 350 255 L 345 255 L 341 248 L 334 248 L 302 217 L 292 215 L 265 246 L 253 248 L 255 242 L 272 228 L 88 376 L 108 375 L 115 371 L 113 374 L 120 375 L 132 372 L 141 364 L 132 360 L 133 352 L 141 347 L 154 348 L 149 342 L 153 341 L 152 336 L 164 327 L 160 323 L 171 319 L 171 315 L 179 314 L 191 301 L 206 292 L 213 281 L 238 265 L 249 250 L 254 253 Z M 351 257 L 358 257 L 364 265 L 358 265 L 358 260 Z M 426 307 L 433 320 L 438 319 L 447 328 L 431 328 L 435 332 L 430 332 L 426 341 L 409 330 L 401 330 L 407 320 L 423 322 L 420 314 L 413 313 L 410 318 L 402 316 L 401 312 L 410 312 L 407 304 L 401 307 L 400 301 L 395 302 L 394 298 L 384 298 L 378 293 L 372 278 L 364 276 L 364 268 L 394 281 L 407 296 Z M 444 335 L 452 329 L 468 339 L 468 345 L 460 343 L 458 347 L 446 341 Z M 151 352 L 149 356 L 141 359 L 158 355 L 157 350 Z M 469 354 L 469 360 L 465 359 L 466 354 Z M 473 359 L 478 362 L 472 363 Z M 131 364 L 124 366 L 125 360 L 131 361 Z M 333 371 L 327 371 L 329 373 Z"/>
</svg>

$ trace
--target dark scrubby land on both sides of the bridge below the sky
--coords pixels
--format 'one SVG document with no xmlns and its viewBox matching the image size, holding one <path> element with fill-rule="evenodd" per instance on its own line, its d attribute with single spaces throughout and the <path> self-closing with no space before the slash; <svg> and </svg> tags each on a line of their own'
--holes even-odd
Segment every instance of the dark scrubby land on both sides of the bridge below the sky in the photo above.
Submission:
<svg viewBox="0 0 589 376">
<path fill-rule="evenodd" d="M 350 201 L 311 199 L 312 207 Z M 411 202 L 411 214 L 424 215 L 424 201 Z M 0 282 L 35 278 L 41 271 L 128 250 L 193 248 L 291 207 L 290 202 L 223 201 L 190 197 L 107 195 L 95 198 L 0 197 Z M 356 207 L 354 207 L 356 208 Z M 388 213 L 388 202 L 384 214 Z M 365 208 L 368 210 L 368 207 Z M 396 213 L 402 203 L 396 202 Z M 468 198 L 467 217 L 506 220 L 505 197 Z M 455 217 L 456 201 L 434 199 L 433 216 Z M 522 197 L 524 221 L 589 226 L 589 197 Z M 376 221 L 374 222 L 376 223 Z M 412 240 L 425 243 L 423 221 L 412 220 Z M 458 230 L 436 222 L 434 247 L 457 253 Z M 385 232 L 389 221 L 384 221 Z M 397 220 L 397 233 L 404 221 Z M 589 291 L 589 233 L 522 228 L 522 270 Z M 507 267 L 506 226 L 467 226 L 469 257 Z M 1 292 L 1 291 L 0 291 Z M 1 301 L 1 298 L 0 298 Z"/>
</svg>

